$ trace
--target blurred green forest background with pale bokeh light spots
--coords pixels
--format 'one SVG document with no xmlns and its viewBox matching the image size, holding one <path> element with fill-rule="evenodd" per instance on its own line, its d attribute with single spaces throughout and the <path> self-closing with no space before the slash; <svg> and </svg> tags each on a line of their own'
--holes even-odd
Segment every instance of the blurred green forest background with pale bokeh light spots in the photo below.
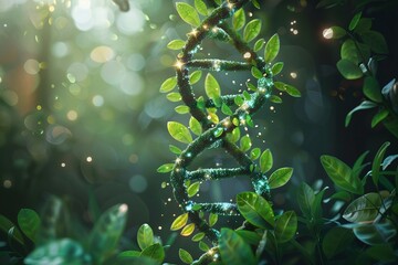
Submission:
<svg viewBox="0 0 398 265">
<path fill-rule="evenodd" d="M 167 43 L 185 39 L 191 29 L 178 18 L 176 1 L 129 2 L 124 13 L 111 0 L 0 0 L 0 212 L 11 220 L 20 208 L 40 212 L 55 194 L 87 226 L 90 203 L 105 210 L 123 202 L 129 206 L 127 233 L 147 222 L 165 240 L 170 234 L 180 211 L 168 176 L 156 169 L 175 159 L 168 145 L 178 145 L 166 123 L 187 124 L 188 116 L 177 115 L 177 105 L 158 91 L 174 75 L 177 54 L 167 51 Z M 342 81 L 335 67 L 339 43 L 323 39 L 322 31 L 346 25 L 354 10 L 350 1 L 331 10 L 315 9 L 316 2 L 271 0 L 249 10 L 263 20 L 265 39 L 280 34 L 282 80 L 303 94 L 268 105 L 254 117 L 256 145 L 271 148 L 276 167 L 295 170 L 291 184 L 273 194 L 276 208 L 296 206 L 289 204 L 294 201 L 289 191 L 301 181 L 326 179 L 321 155 L 352 165 L 365 150 L 394 141 L 381 126 L 370 129 L 366 113 L 344 128 L 345 115 L 363 97 L 362 86 Z M 395 14 L 376 7 L 365 15 L 376 18 L 390 47 L 379 66 L 379 78 L 387 83 L 398 70 Z M 230 59 L 233 52 L 209 42 L 199 55 Z M 235 91 L 248 78 L 242 73 L 217 76 L 222 87 Z M 211 152 L 200 158 L 205 163 L 232 162 Z M 207 183 L 200 197 L 229 200 L 250 189 L 248 183 Z"/>
</svg>

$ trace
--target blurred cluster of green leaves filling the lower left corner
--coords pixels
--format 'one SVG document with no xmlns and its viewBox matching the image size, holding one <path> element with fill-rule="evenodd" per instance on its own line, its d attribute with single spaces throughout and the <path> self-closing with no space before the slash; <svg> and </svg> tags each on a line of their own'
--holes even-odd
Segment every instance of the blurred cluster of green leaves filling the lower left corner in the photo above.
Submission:
<svg viewBox="0 0 398 265">
<path fill-rule="evenodd" d="M 10 264 L 21 259 L 31 265 L 163 263 L 164 247 L 154 237 L 148 224 L 143 224 L 137 232 L 139 251 L 119 250 L 127 220 L 126 204 L 109 208 L 90 232 L 82 231 L 78 235 L 61 233 L 61 227 L 71 225 L 69 220 L 62 219 L 62 212 L 65 211 L 62 208 L 60 199 L 51 198 L 41 216 L 34 210 L 21 209 L 18 225 L 0 214 L 0 229 L 8 234 L 11 248 L 11 252 L 1 254 L 10 256 Z"/>
</svg>

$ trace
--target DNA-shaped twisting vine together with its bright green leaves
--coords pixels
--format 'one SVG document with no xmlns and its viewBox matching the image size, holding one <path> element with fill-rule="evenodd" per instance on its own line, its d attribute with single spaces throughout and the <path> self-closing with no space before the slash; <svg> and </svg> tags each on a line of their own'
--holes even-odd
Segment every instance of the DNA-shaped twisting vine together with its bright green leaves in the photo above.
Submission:
<svg viewBox="0 0 398 265">
<path fill-rule="evenodd" d="M 195 8 L 185 2 L 177 2 L 177 11 L 181 19 L 195 26 L 187 34 L 188 40 L 171 41 L 168 46 L 174 50 L 182 49 L 178 54 L 175 64 L 176 76 L 166 80 L 160 92 L 169 93 L 176 86 L 178 93 L 171 92 L 167 97 L 172 102 L 182 99 L 185 106 L 176 108 L 178 113 L 190 113 L 189 127 L 198 135 L 192 139 L 189 129 L 177 121 L 168 123 L 168 131 L 178 141 L 188 144 L 185 150 L 170 146 L 170 150 L 178 155 L 175 163 L 166 163 L 158 168 L 159 172 L 170 172 L 170 183 L 174 188 L 176 201 L 180 204 L 185 214 L 178 216 L 171 229 L 178 230 L 186 225 L 187 220 L 206 235 L 214 245 L 218 244 L 219 231 L 212 229 L 212 221 L 203 219 L 203 212 L 211 215 L 237 215 L 239 209 L 235 203 L 210 202 L 197 203 L 191 197 L 199 190 L 202 181 L 219 180 L 235 176 L 248 176 L 251 179 L 256 194 L 271 200 L 270 183 L 265 174 L 272 167 L 272 155 L 268 149 L 261 153 L 260 148 L 254 148 L 250 153 L 251 140 L 249 136 L 240 137 L 239 127 L 253 126 L 253 115 L 264 105 L 268 99 L 281 103 L 282 99 L 272 95 L 273 87 L 286 92 L 292 96 L 300 96 L 300 92 L 291 85 L 282 82 L 274 82 L 273 77 L 282 71 L 283 63 L 271 65 L 280 50 L 279 35 L 274 34 L 265 45 L 264 57 L 256 54 L 263 46 L 263 39 L 255 42 L 254 47 L 249 42 L 254 40 L 261 30 L 261 21 L 250 21 L 243 31 L 239 30 L 244 25 L 243 6 L 250 0 L 229 0 L 216 7 L 202 21 L 199 14 L 207 14 L 209 11 L 202 1 L 195 1 Z M 198 12 L 196 11 L 198 10 Z M 229 19 L 232 17 L 232 26 Z M 195 54 L 205 39 L 213 39 L 232 44 L 241 54 L 244 61 L 226 61 L 219 59 L 197 60 Z M 191 70 L 197 70 L 190 73 Z M 247 83 L 248 91 L 242 94 L 222 95 L 217 80 L 208 73 L 205 80 L 205 92 L 208 99 L 197 97 L 192 85 L 200 80 L 201 71 L 251 71 L 256 78 L 256 86 Z M 250 91 L 250 92 L 249 92 Z M 217 110 L 226 115 L 219 119 Z M 240 147 L 235 144 L 240 139 Z M 188 170 L 189 165 L 201 152 L 207 149 L 222 148 L 239 163 L 237 168 L 207 168 Z M 260 156 L 261 155 L 261 156 Z M 254 161 L 260 158 L 260 167 Z M 279 171 L 279 172 L 276 172 Z M 292 169 L 282 168 L 276 170 L 279 176 L 292 174 Z M 193 182 L 193 183 L 192 183 Z M 193 227 L 195 226 L 189 226 Z M 187 227 L 187 226 L 186 226 Z M 191 230 L 191 229 L 190 229 Z"/>
</svg>

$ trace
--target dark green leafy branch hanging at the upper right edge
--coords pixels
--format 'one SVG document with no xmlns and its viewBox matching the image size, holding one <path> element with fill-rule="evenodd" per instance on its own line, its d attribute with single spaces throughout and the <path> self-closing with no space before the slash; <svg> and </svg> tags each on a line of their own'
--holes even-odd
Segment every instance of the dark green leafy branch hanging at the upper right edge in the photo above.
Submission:
<svg viewBox="0 0 398 265">
<path fill-rule="evenodd" d="M 327 6 L 326 2 L 322 1 L 320 7 Z M 347 114 L 345 126 L 349 125 L 354 113 L 376 108 L 371 128 L 383 123 L 395 137 L 398 137 L 397 83 L 392 78 L 383 86 L 377 80 L 378 64 L 386 59 L 388 46 L 384 35 L 373 29 L 373 20 L 364 18 L 363 12 L 358 11 L 346 29 L 334 25 L 324 31 L 324 36 L 343 40 L 341 60 L 337 62 L 339 73 L 346 80 L 363 78 L 363 93 L 366 99 Z"/>
</svg>

